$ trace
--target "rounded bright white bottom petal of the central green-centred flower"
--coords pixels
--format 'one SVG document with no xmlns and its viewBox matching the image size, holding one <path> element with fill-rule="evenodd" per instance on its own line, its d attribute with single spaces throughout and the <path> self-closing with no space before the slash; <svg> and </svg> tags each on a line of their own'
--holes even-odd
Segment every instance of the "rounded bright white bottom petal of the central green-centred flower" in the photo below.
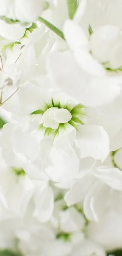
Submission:
<svg viewBox="0 0 122 256">
<path fill-rule="evenodd" d="M 53 147 L 49 153 L 52 165 L 45 170 L 55 182 L 72 179 L 79 171 L 79 159 L 75 151 L 69 145 L 64 145 L 64 142 L 60 144 L 60 141 L 57 141 L 57 147 Z"/>
</svg>

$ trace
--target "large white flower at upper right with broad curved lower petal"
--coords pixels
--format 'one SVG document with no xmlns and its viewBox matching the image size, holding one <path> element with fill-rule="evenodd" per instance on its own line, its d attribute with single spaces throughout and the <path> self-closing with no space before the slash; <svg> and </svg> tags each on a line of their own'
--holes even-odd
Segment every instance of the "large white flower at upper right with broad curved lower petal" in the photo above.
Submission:
<svg viewBox="0 0 122 256">
<path fill-rule="evenodd" d="M 48 71 L 54 83 L 84 106 L 106 105 L 120 94 L 122 76 L 115 72 L 110 76 L 109 69 L 121 68 L 122 65 L 121 31 L 114 26 L 104 26 L 101 30 L 98 33 L 101 37 L 95 35 L 97 31 L 91 34 L 90 41 L 93 42 L 90 43 L 75 21 L 66 20 L 64 37 L 71 51 L 49 53 Z M 93 48 L 93 53 L 97 51 L 106 57 L 104 61 L 111 66 L 105 67 L 103 59 L 99 62 L 95 56 L 97 53 L 92 54 Z"/>
</svg>

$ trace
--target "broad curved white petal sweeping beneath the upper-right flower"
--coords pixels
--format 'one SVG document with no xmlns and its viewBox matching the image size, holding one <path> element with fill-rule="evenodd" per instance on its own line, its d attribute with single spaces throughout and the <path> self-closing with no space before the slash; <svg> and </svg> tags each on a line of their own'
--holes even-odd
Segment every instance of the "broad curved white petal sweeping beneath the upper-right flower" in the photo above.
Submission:
<svg viewBox="0 0 122 256">
<path fill-rule="evenodd" d="M 47 64 L 54 84 L 84 106 L 105 105 L 120 93 L 120 78 L 84 73 L 70 52 L 51 52 Z"/>
</svg>

